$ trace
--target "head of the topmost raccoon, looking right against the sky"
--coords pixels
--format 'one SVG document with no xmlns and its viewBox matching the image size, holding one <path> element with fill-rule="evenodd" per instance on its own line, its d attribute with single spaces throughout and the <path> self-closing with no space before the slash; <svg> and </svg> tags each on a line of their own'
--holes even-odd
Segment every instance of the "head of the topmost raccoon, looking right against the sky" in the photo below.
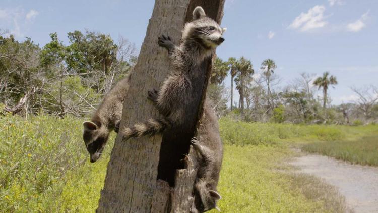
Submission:
<svg viewBox="0 0 378 213">
<path fill-rule="evenodd" d="M 198 6 L 193 11 L 193 21 L 185 25 L 182 37 L 183 40 L 192 38 L 209 49 L 215 49 L 224 41 L 225 31 L 226 28 L 221 28 Z"/>
</svg>

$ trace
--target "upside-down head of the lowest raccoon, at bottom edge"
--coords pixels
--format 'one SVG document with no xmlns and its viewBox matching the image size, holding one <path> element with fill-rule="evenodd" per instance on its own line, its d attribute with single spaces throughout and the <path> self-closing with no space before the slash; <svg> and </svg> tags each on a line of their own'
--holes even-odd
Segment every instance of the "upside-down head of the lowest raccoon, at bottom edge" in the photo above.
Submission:
<svg viewBox="0 0 378 213">
<path fill-rule="evenodd" d="M 218 200 L 222 197 L 218 192 L 214 190 L 209 190 L 205 181 L 199 181 L 194 188 L 194 205 L 195 208 L 192 208 L 192 213 L 194 212 L 205 212 L 213 208 L 220 211 L 217 206 Z"/>
</svg>

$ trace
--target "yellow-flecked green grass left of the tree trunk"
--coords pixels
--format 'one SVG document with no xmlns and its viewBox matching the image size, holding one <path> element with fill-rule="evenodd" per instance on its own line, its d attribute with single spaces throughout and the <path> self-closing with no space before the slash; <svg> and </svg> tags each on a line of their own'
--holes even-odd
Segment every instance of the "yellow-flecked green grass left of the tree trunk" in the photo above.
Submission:
<svg viewBox="0 0 378 213">
<path fill-rule="evenodd" d="M 8 115 L 0 116 L 0 129 L 0 212 L 67 212 L 91 202 L 93 209 L 103 185 L 106 157 L 90 165 L 82 120 Z M 73 182 L 85 182 L 80 185 L 84 190 L 67 194 Z M 95 191 L 88 193 L 93 187 Z"/>
</svg>

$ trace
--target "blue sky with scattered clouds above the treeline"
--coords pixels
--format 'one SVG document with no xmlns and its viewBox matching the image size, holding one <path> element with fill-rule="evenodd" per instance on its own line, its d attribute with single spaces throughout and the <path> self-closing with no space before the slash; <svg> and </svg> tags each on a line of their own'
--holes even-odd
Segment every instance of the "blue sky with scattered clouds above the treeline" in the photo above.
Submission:
<svg viewBox="0 0 378 213">
<path fill-rule="evenodd" d="M 140 48 L 153 6 L 152 0 L 2 0 L 0 29 L 40 46 L 49 42 L 49 33 L 67 44 L 68 32 L 88 29 L 114 40 L 122 36 Z M 355 98 L 350 86 L 378 86 L 376 0 L 226 0 L 224 12 L 226 41 L 217 49 L 224 60 L 244 56 L 258 71 L 271 58 L 281 87 L 301 72 L 329 71 L 339 81 L 329 92 L 333 104 Z"/>
</svg>

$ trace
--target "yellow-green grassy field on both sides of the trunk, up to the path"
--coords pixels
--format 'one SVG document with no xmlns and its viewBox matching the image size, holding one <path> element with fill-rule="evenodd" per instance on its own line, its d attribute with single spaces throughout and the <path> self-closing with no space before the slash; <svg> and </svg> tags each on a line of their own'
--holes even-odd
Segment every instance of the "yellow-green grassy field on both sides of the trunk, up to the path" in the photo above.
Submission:
<svg viewBox="0 0 378 213">
<path fill-rule="evenodd" d="M 83 120 L 0 117 L 0 212 L 96 209 L 115 135 L 100 161 L 90 164 L 81 136 Z M 378 129 L 244 123 L 229 118 L 220 120 L 220 128 L 225 143 L 219 183 L 223 212 L 343 212 L 344 200 L 334 188 L 296 175 L 283 163 L 294 155 L 293 144 L 331 144 Z"/>
</svg>

